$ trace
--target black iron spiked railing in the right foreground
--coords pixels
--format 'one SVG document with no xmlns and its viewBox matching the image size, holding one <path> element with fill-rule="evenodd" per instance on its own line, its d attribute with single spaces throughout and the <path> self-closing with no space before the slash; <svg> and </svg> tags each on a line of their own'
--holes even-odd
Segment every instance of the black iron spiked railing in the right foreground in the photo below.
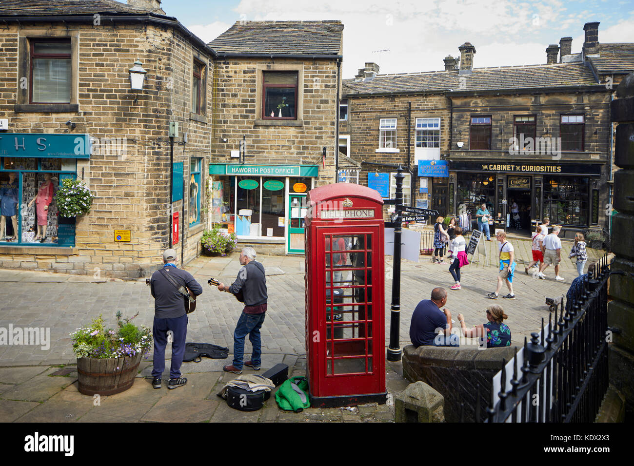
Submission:
<svg viewBox="0 0 634 466">
<path fill-rule="evenodd" d="M 516 351 L 514 361 L 503 361 L 500 391 L 491 391 L 484 416 L 477 403 L 475 419 L 594 422 L 608 385 L 609 275 L 604 256 L 569 299 L 562 297 L 548 318 L 548 327 L 542 318 L 541 335 L 531 333 L 531 341 L 524 339 L 523 351 Z M 510 370 L 512 377 L 507 381 Z"/>
</svg>

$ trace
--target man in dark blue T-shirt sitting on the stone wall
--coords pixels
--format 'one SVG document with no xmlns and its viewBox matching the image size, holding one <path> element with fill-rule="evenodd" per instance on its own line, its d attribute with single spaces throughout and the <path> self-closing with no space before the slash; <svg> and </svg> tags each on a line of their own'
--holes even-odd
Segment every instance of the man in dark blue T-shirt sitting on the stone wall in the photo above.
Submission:
<svg viewBox="0 0 634 466">
<path fill-rule="evenodd" d="M 411 344 L 416 347 L 460 346 L 458 335 L 451 334 L 451 311 L 447 308 L 440 310 L 446 302 L 446 290 L 434 288 L 431 299 L 424 299 L 418 303 L 411 315 Z"/>
</svg>

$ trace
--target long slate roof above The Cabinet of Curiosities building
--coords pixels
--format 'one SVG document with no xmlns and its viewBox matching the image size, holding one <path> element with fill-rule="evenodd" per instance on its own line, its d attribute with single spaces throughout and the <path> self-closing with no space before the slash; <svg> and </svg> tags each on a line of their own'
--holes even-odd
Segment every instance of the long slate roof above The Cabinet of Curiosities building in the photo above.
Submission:
<svg viewBox="0 0 634 466">
<path fill-rule="evenodd" d="M 462 79 L 464 77 L 464 79 Z M 555 63 L 521 67 L 474 68 L 470 75 L 458 71 L 433 71 L 376 75 L 356 81 L 344 79 L 343 96 L 354 94 L 434 93 L 495 91 L 536 87 L 596 86 L 599 84 L 585 63 Z M 462 84 L 462 88 L 461 88 Z"/>
</svg>

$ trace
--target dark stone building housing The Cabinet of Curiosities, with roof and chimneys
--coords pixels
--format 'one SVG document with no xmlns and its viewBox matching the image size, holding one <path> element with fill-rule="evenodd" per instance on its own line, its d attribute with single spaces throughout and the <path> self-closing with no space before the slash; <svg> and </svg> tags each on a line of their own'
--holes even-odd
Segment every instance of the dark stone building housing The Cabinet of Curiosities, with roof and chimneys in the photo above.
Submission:
<svg viewBox="0 0 634 466">
<path fill-rule="evenodd" d="M 545 65 L 474 68 L 469 42 L 459 59 L 444 59 L 444 71 L 380 75 L 366 63 L 343 82 L 349 157 L 404 163 L 418 175 L 412 205 L 442 215 L 471 212 L 475 222 L 486 203 L 497 228 L 528 233 L 531 220 L 549 216 L 567 235 L 607 230 L 609 106 L 616 83 L 634 69 L 634 44 L 599 44 L 598 23 L 584 29 L 581 53 L 564 37 L 560 52 L 548 46 Z M 381 176 L 394 183 L 372 165 L 363 169 L 363 184 Z"/>
</svg>

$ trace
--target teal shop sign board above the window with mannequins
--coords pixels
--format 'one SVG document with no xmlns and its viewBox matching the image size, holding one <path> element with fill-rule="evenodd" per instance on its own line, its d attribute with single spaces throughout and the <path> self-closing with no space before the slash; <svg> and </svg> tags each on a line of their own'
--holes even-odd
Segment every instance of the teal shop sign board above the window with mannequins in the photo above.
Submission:
<svg viewBox="0 0 634 466">
<path fill-rule="evenodd" d="M 0 133 L 0 157 L 90 159 L 88 134 Z"/>
</svg>

